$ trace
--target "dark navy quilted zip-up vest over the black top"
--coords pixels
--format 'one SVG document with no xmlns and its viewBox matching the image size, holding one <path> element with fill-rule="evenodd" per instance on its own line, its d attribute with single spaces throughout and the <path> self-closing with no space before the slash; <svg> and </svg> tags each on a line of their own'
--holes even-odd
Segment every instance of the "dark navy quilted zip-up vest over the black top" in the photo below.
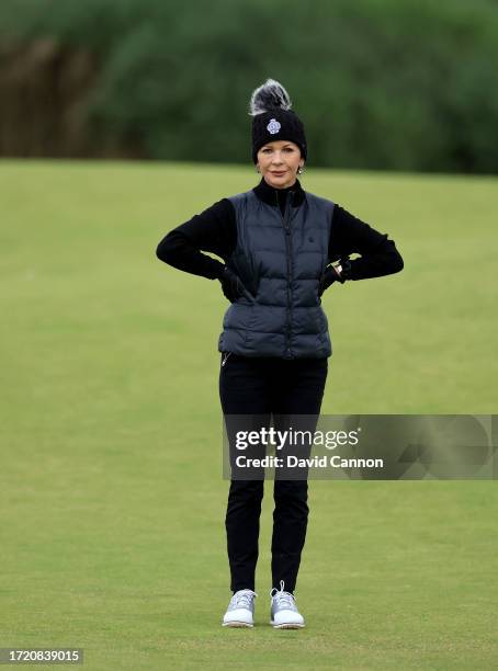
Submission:
<svg viewBox="0 0 498 671">
<path fill-rule="evenodd" d="M 229 197 L 237 246 L 227 265 L 247 295 L 225 312 L 218 351 L 242 356 L 322 359 L 332 350 L 318 283 L 328 263 L 333 203 L 305 192 L 285 213 L 253 191 Z"/>
</svg>

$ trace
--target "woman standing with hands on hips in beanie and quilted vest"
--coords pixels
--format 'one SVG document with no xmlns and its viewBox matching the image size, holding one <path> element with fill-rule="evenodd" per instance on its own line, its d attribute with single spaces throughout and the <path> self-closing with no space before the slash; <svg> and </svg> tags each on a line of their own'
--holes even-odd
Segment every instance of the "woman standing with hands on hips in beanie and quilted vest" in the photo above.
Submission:
<svg viewBox="0 0 498 671">
<path fill-rule="evenodd" d="M 403 259 L 387 235 L 303 190 L 297 175 L 307 158 L 305 129 L 278 81 L 268 79 L 253 91 L 250 114 L 260 183 L 170 231 L 157 255 L 177 269 L 219 280 L 231 303 L 218 341 L 226 422 L 242 416 L 246 427 L 253 428 L 268 425 L 273 417 L 276 429 L 279 422 L 285 425 L 290 417 L 298 417 L 313 429 L 331 354 L 321 294 L 333 282 L 396 273 Z M 352 253 L 360 258 L 349 261 Z M 259 474 L 245 478 L 231 471 L 225 522 L 233 596 L 224 626 L 253 625 L 264 478 Z M 299 628 L 304 617 L 294 590 L 308 519 L 306 476 L 287 479 L 275 474 L 273 496 L 271 624 Z"/>
</svg>

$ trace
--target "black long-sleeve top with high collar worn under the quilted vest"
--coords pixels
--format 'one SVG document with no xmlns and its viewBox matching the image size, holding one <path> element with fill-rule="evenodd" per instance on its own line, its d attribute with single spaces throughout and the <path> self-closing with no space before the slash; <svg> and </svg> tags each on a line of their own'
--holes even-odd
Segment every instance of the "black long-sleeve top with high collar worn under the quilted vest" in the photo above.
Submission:
<svg viewBox="0 0 498 671">
<path fill-rule="evenodd" d="M 281 208 L 285 207 L 285 194 L 294 192 L 293 205 L 302 204 L 305 192 L 298 180 L 287 189 L 273 189 L 264 179 L 254 186 L 256 195 Z M 201 275 L 210 280 L 219 278 L 224 264 L 212 259 L 203 251 L 212 252 L 225 263 L 237 243 L 235 209 L 228 198 L 218 201 L 189 221 L 172 229 L 159 242 L 156 254 L 165 263 L 179 270 Z M 380 277 L 403 270 L 403 259 L 394 240 L 381 234 L 369 224 L 356 218 L 340 205 L 335 205 L 329 241 L 329 263 L 358 253 L 360 258 L 351 261 L 351 270 L 346 278 L 366 280 Z"/>
</svg>

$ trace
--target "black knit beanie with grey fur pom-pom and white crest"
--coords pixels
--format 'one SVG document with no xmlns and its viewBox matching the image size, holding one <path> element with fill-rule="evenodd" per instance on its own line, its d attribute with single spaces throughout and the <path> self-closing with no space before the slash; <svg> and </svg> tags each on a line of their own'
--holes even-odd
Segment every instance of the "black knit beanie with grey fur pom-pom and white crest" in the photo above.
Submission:
<svg viewBox="0 0 498 671">
<path fill-rule="evenodd" d="M 274 79 L 254 89 L 249 103 L 252 116 L 252 161 L 258 162 L 258 151 L 267 143 L 290 140 L 295 143 L 306 160 L 307 146 L 304 125 L 291 110 L 292 102 L 283 86 Z"/>
</svg>

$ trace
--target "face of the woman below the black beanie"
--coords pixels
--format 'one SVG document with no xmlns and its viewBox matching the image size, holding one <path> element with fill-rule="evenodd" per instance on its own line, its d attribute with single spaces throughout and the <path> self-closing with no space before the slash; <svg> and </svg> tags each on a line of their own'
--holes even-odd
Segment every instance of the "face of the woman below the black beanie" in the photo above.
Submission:
<svg viewBox="0 0 498 671">
<path fill-rule="evenodd" d="M 297 168 L 304 166 L 299 147 L 287 140 L 263 145 L 257 155 L 257 168 L 274 189 L 286 189 L 296 181 Z"/>
</svg>

